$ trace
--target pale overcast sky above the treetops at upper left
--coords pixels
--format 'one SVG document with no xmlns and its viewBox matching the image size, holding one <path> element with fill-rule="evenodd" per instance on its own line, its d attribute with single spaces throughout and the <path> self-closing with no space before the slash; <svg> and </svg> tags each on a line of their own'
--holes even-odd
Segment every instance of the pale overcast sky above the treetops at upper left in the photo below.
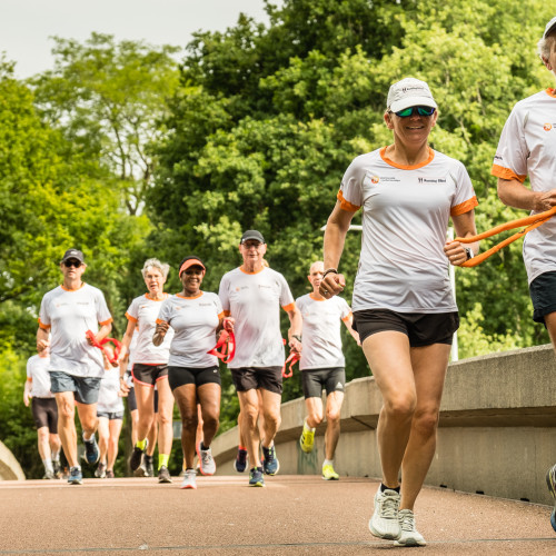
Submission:
<svg viewBox="0 0 556 556">
<path fill-rule="evenodd" d="M 52 36 L 82 41 L 97 31 L 186 46 L 191 32 L 224 31 L 240 12 L 266 23 L 264 8 L 262 0 L 0 0 L 0 52 L 27 78 L 52 67 Z"/>
</svg>

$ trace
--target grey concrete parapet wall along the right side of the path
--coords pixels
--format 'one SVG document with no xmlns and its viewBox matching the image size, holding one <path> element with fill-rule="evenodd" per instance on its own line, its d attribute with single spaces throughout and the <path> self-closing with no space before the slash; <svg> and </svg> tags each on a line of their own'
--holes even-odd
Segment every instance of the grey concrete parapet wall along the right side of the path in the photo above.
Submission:
<svg viewBox="0 0 556 556">
<path fill-rule="evenodd" d="M 359 378 L 347 385 L 335 459 L 340 475 L 380 477 L 376 445 L 380 406 L 381 396 L 374 378 Z M 284 404 L 281 416 L 276 437 L 280 473 L 320 473 L 325 426 L 317 429 L 315 449 L 306 455 L 298 443 L 305 401 Z M 237 443 L 237 428 L 212 443 L 218 474 L 234 473 Z M 449 365 L 437 453 L 426 484 L 552 504 L 545 474 L 555 463 L 556 358 L 552 346 Z"/>
</svg>

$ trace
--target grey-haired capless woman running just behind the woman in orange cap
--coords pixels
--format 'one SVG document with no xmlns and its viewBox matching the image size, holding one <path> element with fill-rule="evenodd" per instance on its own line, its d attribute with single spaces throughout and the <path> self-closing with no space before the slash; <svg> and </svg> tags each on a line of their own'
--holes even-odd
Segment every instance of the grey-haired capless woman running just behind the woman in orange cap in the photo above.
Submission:
<svg viewBox="0 0 556 556">
<path fill-rule="evenodd" d="M 131 301 L 126 317 L 128 327 L 121 340 L 119 359 L 125 360 L 131 344 L 131 338 L 138 328 L 137 346 L 133 353 L 133 376 L 137 406 L 139 409 L 139 424 L 137 427 L 138 440 L 129 459 L 129 466 L 136 471 L 143 461 L 148 447 L 148 436 L 157 415 L 155 414 L 155 385 L 158 390 L 158 481 L 171 483 L 168 471 L 168 460 L 173 441 L 172 411 L 173 396 L 168 385 L 168 358 L 173 330 L 159 346 L 152 344 L 152 336 L 157 326 L 158 314 L 162 301 L 168 299 L 163 287 L 170 266 L 158 259 L 147 259 L 142 267 L 142 276 L 148 294 L 137 297 Z M 122 378 L 122 391 L 128 387 Z"/>
</svg>

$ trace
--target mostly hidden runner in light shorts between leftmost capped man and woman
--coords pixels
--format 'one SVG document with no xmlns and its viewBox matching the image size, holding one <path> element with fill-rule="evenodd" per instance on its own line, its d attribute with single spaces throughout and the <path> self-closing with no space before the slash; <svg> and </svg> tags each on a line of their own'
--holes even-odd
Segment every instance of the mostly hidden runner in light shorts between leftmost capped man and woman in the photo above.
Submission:
<svg viewBox="0 0 556 556">
<path fill-rule="evenodd" d="M 113 357 L 111 348 L 106 348 Z M 120 369 L 112 367 L 105 356 L 105 376 L 100 380 L 99 403 L 99 450 L 100 460 L 95 471 L 98 478 L 113 479 L 113 464 L 118 456 L 121 425 L 123 423 L 123 401 L 120 396 Z"/>
</svg>

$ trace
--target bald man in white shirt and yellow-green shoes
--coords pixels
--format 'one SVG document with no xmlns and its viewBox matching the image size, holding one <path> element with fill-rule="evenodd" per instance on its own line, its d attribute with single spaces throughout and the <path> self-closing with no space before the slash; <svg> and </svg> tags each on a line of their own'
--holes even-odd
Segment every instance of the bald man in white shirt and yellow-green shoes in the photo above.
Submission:
<svg viewBox="0 0 556 556">
<path fill-rule="evenodd" d="M 334 455 L 340 437 L 340 411 L 346 386 L 346 360 L 341 351 L 340 322 L 359 344 L 359 335 L 353 329 L 351 309 L 341 297 L 325 299 L 320 281 L 325 272 L 324 262 L 318 260 L 309 269 L 312 291 L 296 299 L 304 319 L 301 335 L 301 380 L 307 406 L 307 417 L 299 444 L 305 453 L 312 451 L 315 430 L 324 419 L 322 389 L 326 389 L 326 433 L 322 478 L 338 480 L 334 469 Z"/>
</svg>

